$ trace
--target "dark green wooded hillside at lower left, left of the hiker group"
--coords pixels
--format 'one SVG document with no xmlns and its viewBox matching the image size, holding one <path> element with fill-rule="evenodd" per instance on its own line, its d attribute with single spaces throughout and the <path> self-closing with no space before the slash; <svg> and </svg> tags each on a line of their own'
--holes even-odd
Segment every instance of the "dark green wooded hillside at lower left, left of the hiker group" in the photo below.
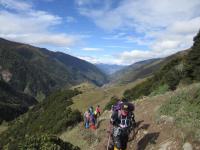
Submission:
<svg viewBox="0 0 200 150">
<path fill-rule="evenodd" d="M 44 102 L 9 124 L 8 130 L 1 134 L 0 146 L 7 145 L 11 150 L 16 149 L 19 143 L 28 142 L 24 141 L 27 137 L 30 140 L 40 139 L 46 134 L 51 137 L 76 125 L 82 120 L 82 115 L 69 106 L 73 104 L 71 98 L 77 94 L 77 90 L 63 90 L 48 96 Z"/>
</svg>

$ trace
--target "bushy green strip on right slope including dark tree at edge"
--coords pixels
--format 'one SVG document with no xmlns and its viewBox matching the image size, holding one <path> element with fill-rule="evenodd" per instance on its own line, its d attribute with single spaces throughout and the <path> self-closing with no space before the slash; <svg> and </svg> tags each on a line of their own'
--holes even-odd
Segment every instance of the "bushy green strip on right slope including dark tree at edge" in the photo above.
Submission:
<svg viewBox="0 0 200 150">
<path fill-rule="evenodd" d="M 175 56 L 175 57 L 174 57 Z M 187 85 L 200 81 L 200 31 L 194 37 L 194 44 L 190 50 L 171 56 L 159 71 L 146 81 L 126 90 L 124 96 L 130 100 L 160 89 L 175 90 L 179 85 Z"/>
</svg>

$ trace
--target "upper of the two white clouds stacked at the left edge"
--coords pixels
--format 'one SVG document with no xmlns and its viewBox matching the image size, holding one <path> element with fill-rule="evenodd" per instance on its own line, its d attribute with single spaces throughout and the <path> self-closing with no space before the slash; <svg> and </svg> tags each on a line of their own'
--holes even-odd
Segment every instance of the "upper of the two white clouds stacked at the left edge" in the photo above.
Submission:
<svg viewBox="0 0 200 150">
<path fill-rule="evenodd" d="M 47 31 L 49 27 L 61 23 L 61 18 L 43 11 L 26 14 L 0 11 L 0 33 L 35 33 Z"/>
</svg>

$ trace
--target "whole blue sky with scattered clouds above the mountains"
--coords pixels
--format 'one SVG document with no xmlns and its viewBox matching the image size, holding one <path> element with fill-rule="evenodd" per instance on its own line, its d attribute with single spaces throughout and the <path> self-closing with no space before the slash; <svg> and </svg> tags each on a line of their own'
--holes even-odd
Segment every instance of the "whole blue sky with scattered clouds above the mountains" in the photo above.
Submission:
<svg viewBox="0 0 200 150">
<path fill-rule="evenodd" d="M 0 0 L 0 37 L 127 65 L 189 48 L 199 10 L 199 0 Z"/>
</svg>

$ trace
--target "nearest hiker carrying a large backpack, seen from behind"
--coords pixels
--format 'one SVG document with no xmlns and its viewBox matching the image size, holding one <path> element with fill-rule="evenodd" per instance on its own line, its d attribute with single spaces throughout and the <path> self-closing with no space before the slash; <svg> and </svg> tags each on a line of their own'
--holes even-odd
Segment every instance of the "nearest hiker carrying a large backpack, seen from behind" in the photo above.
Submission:
<svg viewBox="0 0 200 150">
<path fill-rule="evenodd" d="M 110 123 L 111 129 L 111 142 L 109 149 L 125 150 L 128 142 L 130 129 L 132 128 L 135 120 L 133 117 L 134 105 L 128 102 L 120 102 L 114 107 Z"/>
</svg>

